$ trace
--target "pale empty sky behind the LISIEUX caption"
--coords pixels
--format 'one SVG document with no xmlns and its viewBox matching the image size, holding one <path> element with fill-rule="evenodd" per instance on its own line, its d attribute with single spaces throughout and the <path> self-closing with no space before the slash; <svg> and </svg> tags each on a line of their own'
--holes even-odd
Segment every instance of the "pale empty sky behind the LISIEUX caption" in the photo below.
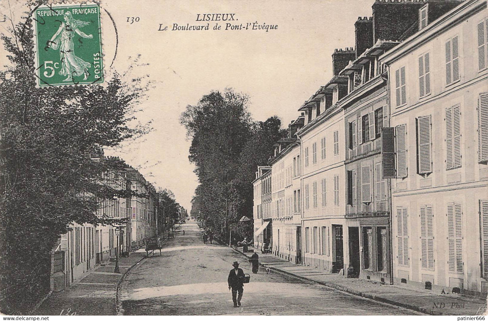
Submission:
<svg viewBox="0 0 488 321">
<path fill-rule="evenodd" d="M 2 1 L 0 16 L 9 16 Z M 332 76 L 334 48 L 354 46 L 354 22 L 371 16 L 374 0 L 324 1 L 158 1 L 102 0 L 118 32 L 113 68 L 127 69 L 128 57 L 141 55 L 149 66 L 134 68 L 132 77 L 149 74 L 157 81 L 140 106 L 138 119 L 154 120 L 154 131 L 122 151 L 109 151 L 156 186 L 171 189 L 186 209 L 198 185 L 194 165 L 188 161 L 186 131 L 179 116 L 188 104 L 211 90 L 232 87 L 251 97 L 249 111 L 255 120 L 278 115 L 286 126 L 298 116 L 297 109 Z M 27 8 L 10 0 L 14 21 Z M 233 24 L 258 22 L 278 29 L 223 30 L 226 21 L 196 21 L 197 14 L 234 13 Z M 127 22 L 127 17 L 139 17 Z M 77 18 L 77 17 L 74 17 Z M 78 18 L 78 19 L 81 19 Z M 130 19 L 132 20 L 132 19 Z M 221 30 L 171 31 L 173 23 L 186 26 L 218 22 Z M 0 22 L 0 32 L 9 21 Z M 168 26 L 166 31 L 158 31 Z M 249 28 L 250 29 L 250 28 Z M 115 27 L 102 13 L 105 68 L 115 54 Z M 1 65 L 5 61 L 0 51 Z"/>
</svg>

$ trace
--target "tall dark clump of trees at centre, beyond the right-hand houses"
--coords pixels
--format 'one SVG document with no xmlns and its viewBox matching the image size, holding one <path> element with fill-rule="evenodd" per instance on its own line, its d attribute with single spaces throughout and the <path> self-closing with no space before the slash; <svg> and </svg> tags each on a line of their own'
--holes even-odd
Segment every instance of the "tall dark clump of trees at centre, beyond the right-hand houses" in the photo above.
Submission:
<svg viewBox="0 0 488 321">
<path fill-rule="evenodd" d="M 204 95 L 180 117 L 200 183 L 191 214 L 225 238 L 229 230 L 238 239 L 252 236 L 252 223 L 239 220 L 252 219 L 257 166 L 269 163 L 273 144 L 286 133 L 277 116 L 255 121 L 248 107 L 247 95 L 228 88 Z"/>
</svg>

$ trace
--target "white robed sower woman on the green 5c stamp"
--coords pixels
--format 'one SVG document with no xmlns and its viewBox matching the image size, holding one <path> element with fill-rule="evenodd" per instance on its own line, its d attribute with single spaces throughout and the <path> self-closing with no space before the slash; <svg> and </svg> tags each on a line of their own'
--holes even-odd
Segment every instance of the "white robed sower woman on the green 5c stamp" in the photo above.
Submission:
<svg viewBox="0 0 488 321">
<path fill-rule="evenodd" d="M 61 26 L 48 42 L 48 45 L 50 48 L 54 50 L 59 49 L 60 51 L 60 75 L 67 76 L 63 81 L 73 81 L 73 76 L 81 75 L 84 75 L 83 80 L 86 80 L 88 77 L 88 68 L 91 67 L 91 64 L 75 55 L 73 37 L 76 32 L 82 38 L 92 39 L 93 35 L 86 35 L 78 29 L 90 22 L 74 19 L 69 11 L 64 14 L 63 18 L 64 22 L 61 23 Z"/>
</svg>

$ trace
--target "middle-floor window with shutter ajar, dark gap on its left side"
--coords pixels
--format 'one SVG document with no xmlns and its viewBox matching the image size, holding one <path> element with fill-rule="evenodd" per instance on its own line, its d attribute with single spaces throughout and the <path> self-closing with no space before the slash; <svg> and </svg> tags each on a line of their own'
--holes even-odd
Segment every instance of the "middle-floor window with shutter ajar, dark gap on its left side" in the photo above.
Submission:
<svg viewBox="0 0 488 321">
<path fill-rule="evenodd" d="M 430 115 L 417 118 L 417 173 L 432 173 L 432 136 Z"/>
</svg>

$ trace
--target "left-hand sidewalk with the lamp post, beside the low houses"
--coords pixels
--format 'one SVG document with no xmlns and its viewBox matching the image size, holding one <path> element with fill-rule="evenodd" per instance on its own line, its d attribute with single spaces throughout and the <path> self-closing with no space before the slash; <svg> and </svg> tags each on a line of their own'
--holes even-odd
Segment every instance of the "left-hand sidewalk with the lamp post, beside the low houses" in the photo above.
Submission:
<svg viewBox="0 0 488 321">
<path fill-rule="evenodd" d="M 166 240 L 162 241 L 163 246 Z M 158 256 L 158 250 L 154 255 Z M 146 257 L 144 248 L 131 252 L 128 258 L 119 259 L 121 273 L 113 273 L 115 261 L 87 272 L 80 281 L 63 291 L 53 292 L 32 312 L 33 315 L 115 315 L 117 285 L 124 274 Z M 149 255 L 151 257 L 151 255 Z"/>
</svg>

